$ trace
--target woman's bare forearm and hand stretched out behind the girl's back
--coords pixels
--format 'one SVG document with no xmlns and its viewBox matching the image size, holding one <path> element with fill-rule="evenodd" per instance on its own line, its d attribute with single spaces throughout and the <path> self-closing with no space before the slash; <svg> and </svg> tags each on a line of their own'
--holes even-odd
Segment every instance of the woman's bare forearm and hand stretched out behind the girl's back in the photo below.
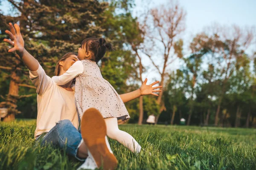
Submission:
<svg viewBox="0 0 256 170">
<path fill-rule="evenodd" d="M 157 86 L 157 87 L 152 87 L 153 85 L 159 83 L 159 81 L 153 82 L 150 85 L 146 85 L 148 79 L 146 78 L 145 81 L 142 83 L 142 85 L 140 86 L 140 89 L 136 90 L 136 91 L 132 91 L 129 93 L 125 93 L 125 94 L 120 94 L 120 97 L 122 99 L 122 101 L 125 102 L 129 102 L 133 99 L 136 99 L 140 96 L 143 95 L 148 95 L 148 94 L 152 94 L 154 96 L 158 96 L 158 94 L 155 94 L 156 92 L 160 92 L 162 90 L 155 90 L 157 88 L 162 88 L 162 86 Z"/>
</svg>

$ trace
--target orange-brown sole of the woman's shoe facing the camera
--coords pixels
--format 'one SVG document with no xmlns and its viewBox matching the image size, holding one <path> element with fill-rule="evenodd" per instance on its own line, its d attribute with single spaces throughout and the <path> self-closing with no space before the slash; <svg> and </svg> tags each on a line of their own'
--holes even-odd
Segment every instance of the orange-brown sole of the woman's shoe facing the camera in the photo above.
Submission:
<svg viewBox="0 0 256 170">
<path fill-rule="evenodd" d="M 114 170 L 117 167 L 117 159 L 108 150 L 105 136 L 107 127 L 101 113 L 90 108 L 84 112 L 81 119 L 81 136 L 88 150 L 93 156 L 98 168 Z"/>
</svg>

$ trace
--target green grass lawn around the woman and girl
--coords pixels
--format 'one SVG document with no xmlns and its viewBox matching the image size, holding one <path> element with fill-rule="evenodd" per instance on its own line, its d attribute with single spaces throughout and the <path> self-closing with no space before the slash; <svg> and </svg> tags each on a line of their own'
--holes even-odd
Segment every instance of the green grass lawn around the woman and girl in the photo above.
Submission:
<svg viewBox="0 0 256 170">
<path fill-rule="evenodd" d="M 116 141 L 118 170 L 256 170 L 256 129 L 121 125 L 144 148 L 131 153 Z M 0 169 L 72 170 L 82 162 L 52 147 L 35 147 L 35 120 L 0 122 Z M 150 156 L 151 153 L 151 156 Z"/>
</svg>

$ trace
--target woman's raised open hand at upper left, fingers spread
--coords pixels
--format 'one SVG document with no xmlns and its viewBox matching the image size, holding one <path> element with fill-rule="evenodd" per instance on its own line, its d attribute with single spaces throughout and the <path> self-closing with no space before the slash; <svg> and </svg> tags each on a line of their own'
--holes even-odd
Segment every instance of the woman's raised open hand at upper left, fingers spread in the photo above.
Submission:
<svg viewBox="0 0 256 170">
<path fill-rule="evenodd" d="M 12 23 L 9 23 L 10 30 L 6 30 L 6 34 L 9 35 L 9 39 L 3 39 L 4 42 L 9 43 L 10 45 L 13 45 L 13 48 L 9 49 L 8 52 L 17 51 L 18 53 L 22 54 L 24 51 L 24 40 L 20 34 L 20 27 L 18 24 L 14 24 L 14 27 L 12 26 Z"/>
</svg>

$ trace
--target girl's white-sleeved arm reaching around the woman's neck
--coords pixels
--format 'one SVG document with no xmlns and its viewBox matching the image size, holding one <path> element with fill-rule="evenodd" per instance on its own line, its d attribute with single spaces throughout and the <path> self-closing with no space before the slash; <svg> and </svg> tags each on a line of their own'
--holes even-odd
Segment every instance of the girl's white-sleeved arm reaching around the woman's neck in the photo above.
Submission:
<svg viewBox="0 0 256 170">
<path fill-rule="evenodd" d="M 79 74 L 82 74 L 84 71 L 84 66 L 81 61 L 76 61 L 70 68 L 66 71 L 66 73 L 61 76 L 53 76 L 52 80 L 57 85 L 65 85 L 74 78 L 76 78 Z"/>
</svg>

